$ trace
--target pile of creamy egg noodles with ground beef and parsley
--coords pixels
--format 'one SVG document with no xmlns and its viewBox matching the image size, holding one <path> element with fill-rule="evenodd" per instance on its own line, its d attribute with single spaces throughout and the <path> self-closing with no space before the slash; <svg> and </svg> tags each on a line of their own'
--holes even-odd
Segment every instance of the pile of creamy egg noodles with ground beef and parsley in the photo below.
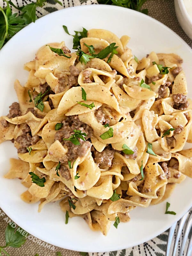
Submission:
<svg viewBox="0 0 192 256">
<path fill-rule="evenodd" d="M 66 30 L 66 29 L 65 29 Z M 60 201 L 107 235 L 111 221 L 158 204 L 192 177 L 192 103 L 182 59 L 151 52 L 139 60 L 110 31 L 91 29 L 71 52 L 47 44 L 25 64 L 18 101 L 0 118 L 0 142 L 12 140 L 7 179 L 27 188 L 26 203 Z M 46 207 L 46 206 L 45 206 Z"/>
</svg>

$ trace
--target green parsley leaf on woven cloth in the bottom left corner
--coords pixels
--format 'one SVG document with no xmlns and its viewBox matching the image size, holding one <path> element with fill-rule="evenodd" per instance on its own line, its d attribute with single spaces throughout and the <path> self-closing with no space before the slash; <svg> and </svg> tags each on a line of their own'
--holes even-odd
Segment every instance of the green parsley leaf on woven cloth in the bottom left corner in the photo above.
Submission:
<svg viewBox="0 0 192 256">
<path fill-rule="evenodd" d="M 10 256 L 8 252 L 4 250 L 4 248 L 11 246 L 13 248 L 19 248 L 21 245 L 25 244 L 26 237 L 20 234 L 17 230 L 18 228 L 13 228 L 10 224 L 7 225 L 5 229 L 5 242 L 4 246 L 0 246 L 0 255 L 4 253 L 7 256 Z"/>
</svg>

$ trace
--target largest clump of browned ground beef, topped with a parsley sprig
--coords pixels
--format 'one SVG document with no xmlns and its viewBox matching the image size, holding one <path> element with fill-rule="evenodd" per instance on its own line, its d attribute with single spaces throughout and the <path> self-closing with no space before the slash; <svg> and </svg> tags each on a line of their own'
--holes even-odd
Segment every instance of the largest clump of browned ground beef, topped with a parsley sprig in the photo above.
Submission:
<svg viewBox="0 0 192 256">
<path fill-rule="evenodd" d="M 55 133 L 54 140 L 59 140 L 63 145 L 67 146 L 68 152 L 66 158 L 61 159 L 62 163 L 66 163 L 68 160 L 76 160 L 78 156 L 84 156 L 89 148 L 91 148 L 91 143 L 89 141 L 84 141 L 78 139 L 80 145 L 74 145 L 69 140 L 63 140 L 64 138 L 68 139 L 74 130 L 81 130 L 82 133 L 85 132 L 85 140 L 88 140 L 92 137 L 93 130 L 87 124 L 82 123 L 78 116 L 69 116 L 66 120 L 63 121 L 62 128 Z"/>
</svg>

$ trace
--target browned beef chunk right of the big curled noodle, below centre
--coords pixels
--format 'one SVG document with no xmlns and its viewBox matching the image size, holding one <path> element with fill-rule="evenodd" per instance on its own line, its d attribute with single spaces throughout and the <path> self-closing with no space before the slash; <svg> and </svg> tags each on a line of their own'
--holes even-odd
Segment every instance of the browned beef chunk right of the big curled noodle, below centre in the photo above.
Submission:
<svg viewBox="0 0 192 256">
<path fill-rule="evenodd" d="M 107 146 L 102 152 L 93 150 L 93 158 L 100 168 L 111 167 L 115 150 Z"/>
</svg>

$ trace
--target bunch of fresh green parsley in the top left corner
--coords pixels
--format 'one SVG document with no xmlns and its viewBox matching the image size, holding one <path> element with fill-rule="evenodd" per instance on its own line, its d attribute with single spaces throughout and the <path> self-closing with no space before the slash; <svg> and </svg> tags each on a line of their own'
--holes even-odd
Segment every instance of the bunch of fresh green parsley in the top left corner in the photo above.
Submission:
<svg viewBox="0 0 192 256">
<path fill-rule="evenodd" d="M 5 8 L 0 6 L 0 49 L 2 46 L 18 31 L 27 26 L 31 22 L 35 22 L 36 8 L 43 7 L 47 0 L 37 0 L 36 3 L 30 3 L 25 6 L 18 7 L 11 1 L 4 0 L 7 3 Z M 62 6 L 58 0 L 53 0 Z M 12 5 L 20 13 L 12 14 Z"/>
</svg>

